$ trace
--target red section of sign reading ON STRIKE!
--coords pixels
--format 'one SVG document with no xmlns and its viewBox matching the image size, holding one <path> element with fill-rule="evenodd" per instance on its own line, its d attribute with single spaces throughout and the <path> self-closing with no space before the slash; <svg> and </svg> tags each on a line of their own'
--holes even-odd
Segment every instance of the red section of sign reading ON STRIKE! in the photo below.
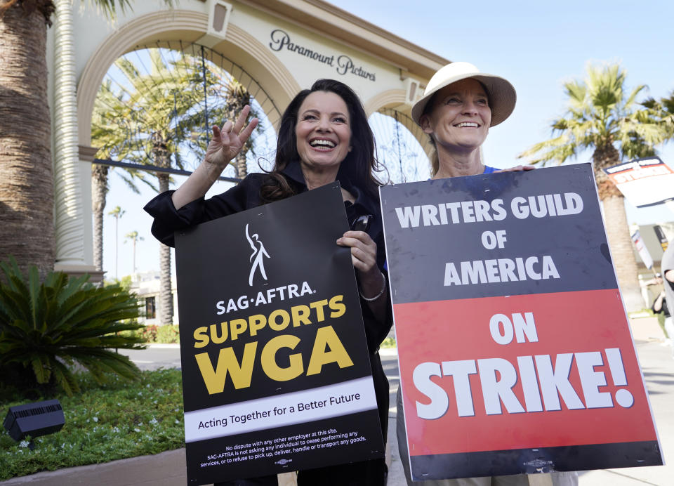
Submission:
<svg viewBox="0 0 674 486">
<path fill-rule="evenodd" d="M 412 456 L 656 440 L 617 289 L 404 303 L 394 313 Z M 426 378 L 447 394 L 437 419 L 418 416 L 417 404 L 432 403 L 414 381 L 423 363 L 445 371 Z M 464 370 L 468 397 L 451 369 Z M 459 416 L 457 386 L 473 415 Z"/>
</svg>

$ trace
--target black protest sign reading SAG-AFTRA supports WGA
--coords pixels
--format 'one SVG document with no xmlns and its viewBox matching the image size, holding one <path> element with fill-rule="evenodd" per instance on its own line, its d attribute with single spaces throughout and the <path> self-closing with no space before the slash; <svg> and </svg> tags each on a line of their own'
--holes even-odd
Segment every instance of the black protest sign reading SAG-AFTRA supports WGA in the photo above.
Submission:
<svg viewBox="0 0 674 486">
<path fill-rule="evenodd" d="M 383 457 L 338 183 L 176 234 L 190 485 Z"/>
</svg>

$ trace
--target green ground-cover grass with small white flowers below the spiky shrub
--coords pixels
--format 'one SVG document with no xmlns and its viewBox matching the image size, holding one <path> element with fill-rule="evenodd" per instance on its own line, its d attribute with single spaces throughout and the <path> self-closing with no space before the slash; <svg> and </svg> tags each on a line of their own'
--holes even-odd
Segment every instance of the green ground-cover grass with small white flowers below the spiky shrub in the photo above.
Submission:
<svg viewBox="0 0 674 486">
<path fill-rule="evenodd" d="M 0 480 L 184 447 L 180 370 L 145 371 L 138 381 L 110 376 L 103 386 L 85 372 L 77 380 L 81 393 L 71 398 L 25 398 L 17 390 L 0 389 L 1 419 L 13 405 L 49 398 L 58 398 L 65 414 L 65 426 L 36 438 L 34 450 L 28 440 L 15 442 L 2 428 Z"/>
</svg>

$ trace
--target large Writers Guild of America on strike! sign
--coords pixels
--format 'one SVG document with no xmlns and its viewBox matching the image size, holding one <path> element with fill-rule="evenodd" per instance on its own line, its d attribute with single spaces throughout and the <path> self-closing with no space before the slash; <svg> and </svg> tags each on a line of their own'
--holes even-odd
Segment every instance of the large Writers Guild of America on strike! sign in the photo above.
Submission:
<svg viewBox="0 0 674 486">
<path fill-rule="evenodd" d="M 414 479 L 662 464 L 590 164 L 381 204 Z"/>
</svg>

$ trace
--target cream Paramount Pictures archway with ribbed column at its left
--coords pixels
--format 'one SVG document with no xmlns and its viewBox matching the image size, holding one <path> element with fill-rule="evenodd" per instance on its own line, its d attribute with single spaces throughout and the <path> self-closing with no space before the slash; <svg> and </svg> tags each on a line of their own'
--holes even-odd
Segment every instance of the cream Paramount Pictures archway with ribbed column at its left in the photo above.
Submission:
<svg viewBox="0 0 674 486">
<path fill-rule="evenodd" d="M 180 0 L 173 9 L 159 1 L 137 1 L 114 22 L 78 3 L 55 1 L 48 32 L 55 268 L 88 273 L 92 280 L 102 275 L 93 266 L 90 223 L 96 152 L 91 117 L 100 84 L 121 55 L 171 41 L 210 48 L 265 91 L 276 110 L 267 112 L 274 129 L 300 89 L 321 77 L 339 79 L 354 88 L 368 115 L 395 113 L 412 133 L 412 103 L 433 72 L 449 62 L 321 0 Z M 415 137 L 430 155 L 428 140 L 420 131 Z"/>
</svg>

